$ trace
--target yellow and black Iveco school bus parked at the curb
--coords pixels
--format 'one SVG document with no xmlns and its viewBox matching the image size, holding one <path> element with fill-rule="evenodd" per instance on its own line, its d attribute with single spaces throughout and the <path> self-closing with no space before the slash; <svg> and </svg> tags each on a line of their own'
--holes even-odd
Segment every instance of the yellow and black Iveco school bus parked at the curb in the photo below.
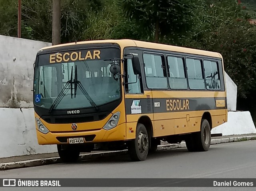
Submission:
<svg viewBox="0 0 256 191">
<path fill-rule="evenodd" d="M 160 141 L 207 151 L 227 121 L 220 53 L 131 39 L 40 49 L 33 96 L 38 144 L 65 162 L 125 149 L 143 161 Z"/>
</svg>

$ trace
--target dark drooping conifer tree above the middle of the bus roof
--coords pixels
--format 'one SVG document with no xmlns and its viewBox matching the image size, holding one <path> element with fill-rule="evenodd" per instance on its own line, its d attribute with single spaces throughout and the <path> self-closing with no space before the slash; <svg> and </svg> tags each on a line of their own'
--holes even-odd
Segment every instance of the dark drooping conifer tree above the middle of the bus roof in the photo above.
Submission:
<svg viewBox="0 0 256 191">
<path fill-rule="evenodd" d="M 120 0 L 125 16 L 149 39 L 164 41 L 186 34 L 196 23 L 204 0 Z"/>
</svg>

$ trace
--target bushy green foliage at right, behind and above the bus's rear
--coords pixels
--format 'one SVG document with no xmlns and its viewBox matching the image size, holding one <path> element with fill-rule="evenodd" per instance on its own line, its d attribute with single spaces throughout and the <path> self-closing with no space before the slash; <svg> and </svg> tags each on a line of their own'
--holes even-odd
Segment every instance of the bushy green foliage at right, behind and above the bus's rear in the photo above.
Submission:
<svg viewBox="0 0 256 191">
<path fill-rule="evenodd" d="M 256 28 L 242 7 L 236 0 L 208 2 L 202 30 L 190 46 L 220 52 L 226 72 L 238 85 L 238 95 L 245 98 L 256 85 Z"/>
</svg>

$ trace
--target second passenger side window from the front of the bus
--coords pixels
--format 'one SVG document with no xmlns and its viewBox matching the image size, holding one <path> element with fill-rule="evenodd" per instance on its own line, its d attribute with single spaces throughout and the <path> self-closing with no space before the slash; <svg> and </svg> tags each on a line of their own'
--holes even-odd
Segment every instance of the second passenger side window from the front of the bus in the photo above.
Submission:
<svg viewBox="0 0 256 191">
<path fill-rule="evenodd" d="M 171 89 L 188 89 L 184 70 L 184 60 L 179 57 L 168 56 L 169 82 Z"/>
</svg>

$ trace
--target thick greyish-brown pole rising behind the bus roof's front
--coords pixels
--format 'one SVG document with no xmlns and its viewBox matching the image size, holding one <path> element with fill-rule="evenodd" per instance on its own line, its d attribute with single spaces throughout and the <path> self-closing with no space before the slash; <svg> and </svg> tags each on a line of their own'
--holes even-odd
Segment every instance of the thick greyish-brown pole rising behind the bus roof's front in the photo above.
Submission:
<svg viewBox="0 0 256 191">
<path fill-rule="evenodd" d="M 52 0 L 52 45 L 60 44 L 60 0 Z"/>
</svg>

